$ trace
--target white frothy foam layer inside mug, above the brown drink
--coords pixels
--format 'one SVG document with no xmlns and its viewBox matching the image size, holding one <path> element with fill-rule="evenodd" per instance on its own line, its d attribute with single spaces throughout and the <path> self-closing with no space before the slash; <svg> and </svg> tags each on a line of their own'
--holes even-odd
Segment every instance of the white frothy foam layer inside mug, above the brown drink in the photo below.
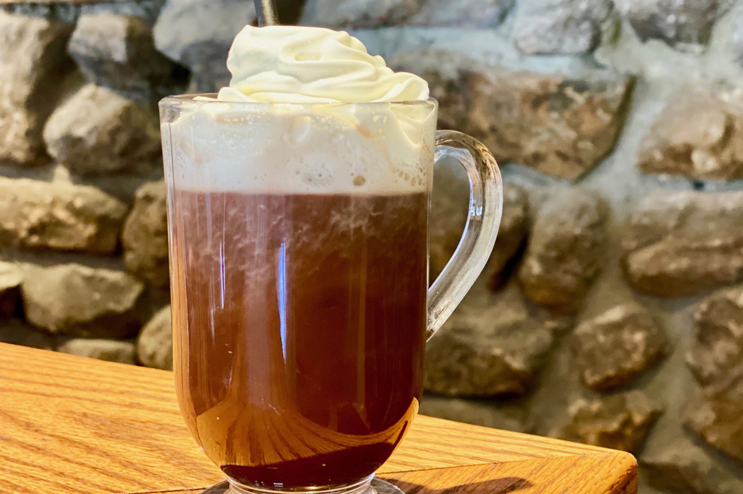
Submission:
<svg viewBox="0 0 743 494">
<path fill-rule="evenodd" d="M 178 188 L 407 194 L 431 185 L 435 103 L 184 102 L 162 131 Z"/>
</svg>

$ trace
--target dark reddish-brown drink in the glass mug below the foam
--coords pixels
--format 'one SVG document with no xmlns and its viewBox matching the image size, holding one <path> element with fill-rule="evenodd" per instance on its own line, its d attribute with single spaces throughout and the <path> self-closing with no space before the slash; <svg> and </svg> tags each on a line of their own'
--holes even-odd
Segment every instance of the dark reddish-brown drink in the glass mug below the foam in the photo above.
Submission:
<svg viewBox="0 0 743 494">
<path fill-rule="evenodd" d="M 231 478 L 338 486 L 418 409 L 428 195 L 171 197 L 181 409 Z"/>
</svg>

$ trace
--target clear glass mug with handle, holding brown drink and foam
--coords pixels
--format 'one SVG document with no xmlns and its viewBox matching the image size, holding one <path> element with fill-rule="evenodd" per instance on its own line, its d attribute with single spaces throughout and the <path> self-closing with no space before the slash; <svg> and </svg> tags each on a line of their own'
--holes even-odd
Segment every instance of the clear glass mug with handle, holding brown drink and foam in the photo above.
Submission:
<svg viewBox="0 0 743 494">
<path fill-rule="evenodd" d="M 374 471 L 418 411 L 425 342 L 483 268 L 502 209 L 493 156 L 437 132 L 437 108 L 160 102 L 178 403 L 227 475 L 204 492 L 397 490 Z M 467 171 L 470 212 L 429 289 L 443 157 Z"/>
</svg>

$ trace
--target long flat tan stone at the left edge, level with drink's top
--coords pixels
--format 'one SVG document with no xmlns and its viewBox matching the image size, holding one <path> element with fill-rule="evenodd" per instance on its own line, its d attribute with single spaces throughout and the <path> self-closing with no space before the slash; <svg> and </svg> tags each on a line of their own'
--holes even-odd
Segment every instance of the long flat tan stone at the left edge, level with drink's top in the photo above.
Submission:
<svg viewBox="0 0 743 494">
<path fill-rule="evenodd" d="M 97 188 L 0 177 L 0 246 L 112 254 L 126 207 Z"/>
</svg>

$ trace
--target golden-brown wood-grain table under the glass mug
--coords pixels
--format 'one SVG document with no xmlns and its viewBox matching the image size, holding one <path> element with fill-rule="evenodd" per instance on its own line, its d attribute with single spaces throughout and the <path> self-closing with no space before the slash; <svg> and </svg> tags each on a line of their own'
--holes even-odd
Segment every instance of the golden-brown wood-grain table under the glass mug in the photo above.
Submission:
<svg viewBox="0 0 743 494">
<path fill-rule="evenodd" d="M 407 494 L 635 494 L 625 452 L 419 416 L 378 476 Z M 196 494 L 223 480 L 171 372 L 0 343 L 0 493 Z"/>
</svg>

